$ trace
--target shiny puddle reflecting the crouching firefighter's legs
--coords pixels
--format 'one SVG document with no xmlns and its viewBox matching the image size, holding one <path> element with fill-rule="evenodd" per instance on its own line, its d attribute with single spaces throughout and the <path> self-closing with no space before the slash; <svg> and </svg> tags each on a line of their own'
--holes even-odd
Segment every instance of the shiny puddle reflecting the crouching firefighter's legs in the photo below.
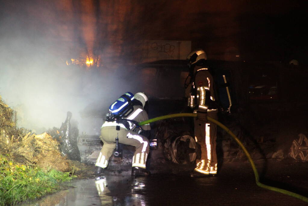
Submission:
<svg viewBox="0 0 308 206">
<path fill-rule="evenodd" d="M 74 180 L 67 185 L 71 188 L 45 196 L 22 206 L 88 206 L 88 205 L 141 205 L 145 206 L 142 195 L 144 179 L 131 176 L 108 175 L 97 179 Z"/>
</svg>

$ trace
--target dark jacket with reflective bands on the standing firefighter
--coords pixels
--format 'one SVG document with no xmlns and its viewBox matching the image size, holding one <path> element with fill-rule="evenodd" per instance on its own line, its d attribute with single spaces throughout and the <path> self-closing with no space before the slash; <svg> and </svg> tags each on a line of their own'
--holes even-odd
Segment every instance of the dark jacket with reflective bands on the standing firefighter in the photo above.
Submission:
<svg viewBox="0 0 308 206">
<path fill-rule="evenodd" d="M 188 106 L 194 110 L 194 113 L 216 111 L 214 80 L 208 68 L 196 66 L 191 78 L 193 79 L 185 91 Z"/>
</svg>

